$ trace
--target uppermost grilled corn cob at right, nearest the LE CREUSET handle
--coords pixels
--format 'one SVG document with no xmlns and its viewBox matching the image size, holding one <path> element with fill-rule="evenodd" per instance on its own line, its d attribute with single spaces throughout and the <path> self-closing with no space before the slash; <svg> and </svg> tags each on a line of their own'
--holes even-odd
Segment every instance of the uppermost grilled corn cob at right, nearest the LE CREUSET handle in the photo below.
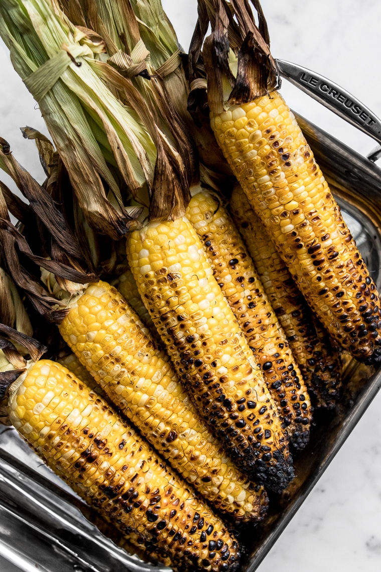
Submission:
<svg viewBox="0 0 381 572">
<path fill-rule="evenodd" d="M 367 363 L 381 359 L 381 311 L 340 208 L 277 92 L 211 113 L 251 206 L 327 331 Z"/>
</svg>

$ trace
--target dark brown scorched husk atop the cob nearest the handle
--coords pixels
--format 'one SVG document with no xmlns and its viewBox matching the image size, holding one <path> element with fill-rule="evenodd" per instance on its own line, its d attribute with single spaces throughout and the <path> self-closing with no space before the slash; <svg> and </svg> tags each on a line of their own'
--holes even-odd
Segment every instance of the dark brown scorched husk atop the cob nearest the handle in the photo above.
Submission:
<svg viewBox="0 0 381 572">
<path fill-rule="evenodd" d="M 221 113 L 226 105 L 242 105 L 277 89 L 280 85 L 278 69 L 270 53 L 266 19 L 259 1 L 252 1 L 258 26 L 248 0 L 198 0 L 198 3 L 199 22 L 190 48 L 191 79 L 195 82 L 203 77 L 197 66 L 198 62 L 203 63 L 211 110 Z M 211 24 L 212 31 L 205 38 L 207 23 Z M 231 84 L 230 92 L 227 84 Z"/>
</svg>

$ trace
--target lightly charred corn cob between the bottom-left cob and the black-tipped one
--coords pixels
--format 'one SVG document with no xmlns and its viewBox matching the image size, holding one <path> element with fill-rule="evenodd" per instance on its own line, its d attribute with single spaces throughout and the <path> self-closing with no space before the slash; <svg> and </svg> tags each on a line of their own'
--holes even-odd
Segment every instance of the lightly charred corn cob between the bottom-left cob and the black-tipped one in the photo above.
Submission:
<svg viewBox="0 0 381 572">
<path fill-rule="evenodd" d="M 89 285 L 59 330 L 107 396 L 196 490 L 235 519 L 263 517 L 266 492 L 226 457 L 169 357 L 114 287 Z"/>
</svg>

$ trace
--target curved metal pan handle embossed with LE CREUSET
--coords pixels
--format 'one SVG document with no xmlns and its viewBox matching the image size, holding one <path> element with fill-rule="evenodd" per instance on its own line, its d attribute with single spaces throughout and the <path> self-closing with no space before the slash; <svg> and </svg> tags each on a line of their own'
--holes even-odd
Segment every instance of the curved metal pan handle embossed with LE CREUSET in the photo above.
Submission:
<svg viewBox="0 0 381 572">
<path fill-rule="evenodd" d="M 306 67 L 283 59 L 277 59 L 276 63 L 280 76 L 381 144 L 381 121 L 345 89 Z"/>
</svg>

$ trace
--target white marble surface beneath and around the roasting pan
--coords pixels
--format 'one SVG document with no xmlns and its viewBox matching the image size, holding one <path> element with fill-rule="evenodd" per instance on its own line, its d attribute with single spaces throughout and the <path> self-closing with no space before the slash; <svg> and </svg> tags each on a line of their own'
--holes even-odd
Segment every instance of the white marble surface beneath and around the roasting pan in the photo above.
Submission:
<svg viewBox="0 0 381 572">
<path fill-rule="evenodd" d="M 189 46 L 195 0 L 163 0 L 182 46 Z M 275 57 L 309 67 L 342 85 L 381 116 L 380 0 L 262 1 Z M 19 126 L 43 130 L 34 101 L 0 49 L 0 136 L 39 179 L 33 143 Z M 289 104 L 366 154 L 374 143 L 284 81 Z M 0 557 L 1 572 L 14 572 Z M 381 394 L 374 400 L 258 572 L 381 570 Z"/>
</svg>

